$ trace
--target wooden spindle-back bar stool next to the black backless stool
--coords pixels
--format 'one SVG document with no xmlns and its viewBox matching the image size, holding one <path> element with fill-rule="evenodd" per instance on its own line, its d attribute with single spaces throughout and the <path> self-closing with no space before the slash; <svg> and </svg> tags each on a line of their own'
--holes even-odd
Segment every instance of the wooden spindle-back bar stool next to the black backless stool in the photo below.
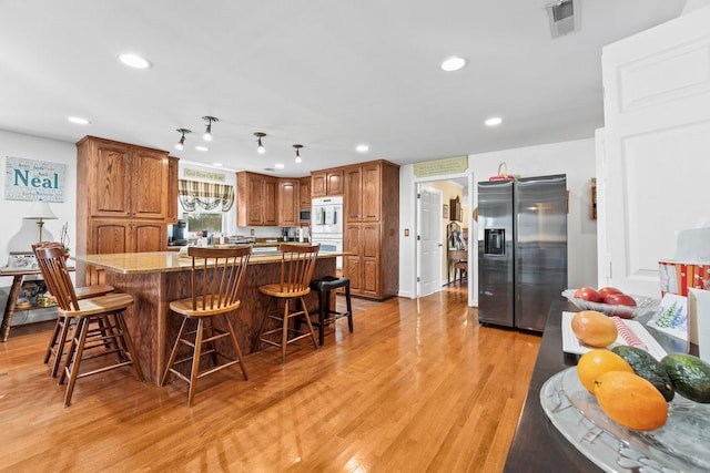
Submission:
<svg viewBox="0 0 710 473">
<path fill-rule="evenodd" d="M 278 282 L 260 286 L 258 288 L 260 292 L 272 298 L 270 299 L 266 315 L 262 321 L 258 339 L 264 343 L 281 347 L 281 364 L 286 362 L 286 346 L 301 340 L 302 338 L 311 337 L 313 340 L 313 347 L 315 349 L 318 348 L 318 343 L 315 339 L 315 332 L 313 331 L 313 323 L 311 322 L 308 309 L 306 308 L 306 302 L 303 297 L 311 292 L 310 284 L 320 248 L 320 244 L 281 244 L 278 246 L 278 250 L 282 253 L 281 280 Z M 280 299 L 284 300 L 284 309 L 281 313 L 278 308 L 272 310 L 272 305 L 276 304 Z M 292 310 L 291 301 L 294 299 L 296 302 L 301 302 L 301 310 L 296 310 L 295 307 Z M 305 320 L 308 331 L 302 331 L 296 327 L 290 327 L 291 319 L 298 320 L 300 318 Z M 268 320 L 276 320 L 280 327 L 264 331 L 267 327 Z M 270 338 L 270 336 L 274 333 L 278 333 L 281 336 L 280 340 L 272 340 Z M 288 337 L 290 333 L 292 335 L 291 338 Z"/>
</svg>

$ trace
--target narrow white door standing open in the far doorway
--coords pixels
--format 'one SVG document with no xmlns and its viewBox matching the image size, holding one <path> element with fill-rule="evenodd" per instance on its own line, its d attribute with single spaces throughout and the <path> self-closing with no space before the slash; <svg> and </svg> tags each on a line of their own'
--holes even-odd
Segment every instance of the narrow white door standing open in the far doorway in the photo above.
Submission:
<svg viewBox="0 0 710 473">
<path fill-rule="evenodd" d="M 442 191 L 419 184 L 417 241 L 418 296 L 442 288 Z"/>
</svg>

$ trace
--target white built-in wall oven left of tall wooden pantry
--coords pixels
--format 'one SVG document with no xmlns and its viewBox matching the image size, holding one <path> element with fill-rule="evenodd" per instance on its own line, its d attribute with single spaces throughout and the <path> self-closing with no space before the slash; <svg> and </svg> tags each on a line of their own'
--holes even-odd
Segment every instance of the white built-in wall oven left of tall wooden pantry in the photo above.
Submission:
<svg viewBox="0 0 710 473">
<path fill-rule="evenodd" d="M 343 251 L 343 197 L 314 198 L 311 206 L 311 241 L 321 244 L 321 251 Z M 335 258 L 336 269 L 343 269 L 343 258 Z"/>
</svg>

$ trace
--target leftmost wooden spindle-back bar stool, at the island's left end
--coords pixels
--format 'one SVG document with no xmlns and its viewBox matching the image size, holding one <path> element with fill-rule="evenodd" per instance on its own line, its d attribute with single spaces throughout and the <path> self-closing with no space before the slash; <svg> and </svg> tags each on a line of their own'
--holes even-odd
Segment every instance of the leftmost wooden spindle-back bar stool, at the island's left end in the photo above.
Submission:
<svg viewBox="0 0 710 473">
<path fill-rule="evenodd" d="M 49 291 L 59 305 L 59 317 L 65 319 L 67 326 L 72 325 L 71 319 L 77 320 L 73 323 L 67 360 L 59 379 L 59 384 L 67 381 L 64 407 L 71 403 L 74 384 L 79 378 L 133 366 L 139 380 L 143 381 L 143 371 L 123 318 L 123 311 L 133 304 L 133 297 L 128 294 L 112 292 L 79 300 L 64 263 L 63 247 L 41 246 L 34 249 L 34 255 Z M 92 337 L 88 337 L 89 326 L 93 322 L 102 329 Z M 59 340 L 61 343 L 61 336 Z M 80 373 L 83 359 L 110 354 L 116 356 L 111 364 Z M 58 356 L 61 356 L 61 351 L 58 351 Z"/>
</svg>

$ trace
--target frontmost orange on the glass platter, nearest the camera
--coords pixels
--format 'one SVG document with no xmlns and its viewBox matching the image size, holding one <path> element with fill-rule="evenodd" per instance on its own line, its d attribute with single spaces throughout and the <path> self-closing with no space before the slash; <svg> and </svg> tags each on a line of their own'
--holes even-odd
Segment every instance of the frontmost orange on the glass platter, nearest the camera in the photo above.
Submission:
<svg viewBox="0 0 710 473">
<path fill-rule="evenodd" d="M 656 430 L 668 420 L 663 394 L 638 374 L 608 371 L 597 379 L 595 393 L 601 410 L 628 429 Z"/>
</svg>

